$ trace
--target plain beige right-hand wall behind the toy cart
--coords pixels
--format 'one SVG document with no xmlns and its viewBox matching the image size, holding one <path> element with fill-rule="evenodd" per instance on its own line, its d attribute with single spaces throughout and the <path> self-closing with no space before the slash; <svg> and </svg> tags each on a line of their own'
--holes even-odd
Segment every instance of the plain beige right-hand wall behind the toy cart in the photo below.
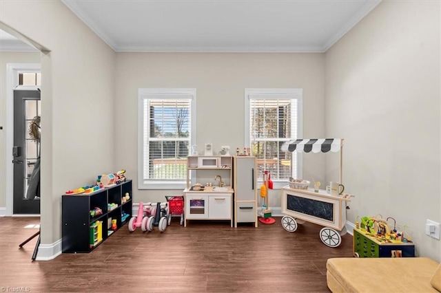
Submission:
<svg viewBox="0 0 441 293">
<path fill-rule="evenodd" d="M 418 255 L 441 261 L 440 2 L 383 1 L 326 53 L 326 134 L 345 138 L 358 216 L 394 217 Z M 332 172 L 327 164 L 327 173 Z"/>
</svg>

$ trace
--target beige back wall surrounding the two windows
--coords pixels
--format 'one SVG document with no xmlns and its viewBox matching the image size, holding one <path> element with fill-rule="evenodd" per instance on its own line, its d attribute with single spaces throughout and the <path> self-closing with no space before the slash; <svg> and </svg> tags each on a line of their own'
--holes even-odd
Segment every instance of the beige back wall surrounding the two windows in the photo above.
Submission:
<svg viewBox="0 0 441 293">
<path fill-rule="evenodd" d="M 140 87 L 188 87 L 197 91 L 196 139 L 199 149 L 212 142 L 244 146 L 245 88 L 302 88 L 303 134 L 324 135 L 324 54 L 150 54 L 116 56 L 116 167 L 134 180 L 134 202 L 164 201 L 182 191 L 138 191 L 137 96 Z M 324 175 L 320 156 L 306 158 L 304 177 Z M 270 206 L 280 206 L 280 191 L 269 195 Z"/>
</svg>

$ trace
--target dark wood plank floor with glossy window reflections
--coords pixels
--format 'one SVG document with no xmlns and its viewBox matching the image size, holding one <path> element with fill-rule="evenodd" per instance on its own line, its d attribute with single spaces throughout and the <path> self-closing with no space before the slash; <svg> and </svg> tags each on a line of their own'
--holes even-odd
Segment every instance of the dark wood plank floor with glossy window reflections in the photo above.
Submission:
<svg viewBox="0 0 441 293">
<path fill-rule="evenodd" d="M 29 292 L 329 292 L 326 261 L 352 257 L 352 237 L 338 248 L 311 223 L 287 232 L 276 224 L 230 228 L 229 222 L 174 217 L 165 232 L 127 225 L 88 254 L 31 261 L 38 218 L 0 217 L 0 287 Z M 156 228 L 155 228 L 156 229 Z M 2 290 L 2 292 L 4 292 Z M 8 292 L 8 290 L 6 290 Z"/>
</svg>

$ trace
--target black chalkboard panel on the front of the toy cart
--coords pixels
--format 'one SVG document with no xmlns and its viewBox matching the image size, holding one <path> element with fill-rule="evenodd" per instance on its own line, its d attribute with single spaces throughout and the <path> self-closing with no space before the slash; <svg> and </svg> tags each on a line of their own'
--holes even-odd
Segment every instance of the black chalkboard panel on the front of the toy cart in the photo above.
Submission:
<svg viewBox="0 0 441 293">
<path fill-rule="evenodd" d="M 334 204 L 315 199 L 287 195 L 287 209 L 297 213 L 334 221 Z"/>
</svg>

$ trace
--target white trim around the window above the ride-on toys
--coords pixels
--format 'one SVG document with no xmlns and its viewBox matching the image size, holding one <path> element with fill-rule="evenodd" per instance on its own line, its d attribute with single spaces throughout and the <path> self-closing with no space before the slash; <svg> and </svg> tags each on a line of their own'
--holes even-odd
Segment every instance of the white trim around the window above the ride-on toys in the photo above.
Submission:
<svg viewBox="0 0 441 293">
<path fill-rule="evenodd" d="M 143 158 L 144 158 L 144 111 L 143 111 L 143 101 L 150 98 L 161 98 L 161 96 L 166 96 L 167 98 L 192 99 L 192 116 L 191 116 L 191 143 L 190 145 L 196 144 L 196 89 L 167 89 L 167 88 L 142 88 L 138 89 L 138 189 L 166 189 L 183 190 L 186 186 L 186 180 L 183 179 L 182 182 L 167 180 L 158 181 L 145 181 L 143 178 Z"/>
</svg>

